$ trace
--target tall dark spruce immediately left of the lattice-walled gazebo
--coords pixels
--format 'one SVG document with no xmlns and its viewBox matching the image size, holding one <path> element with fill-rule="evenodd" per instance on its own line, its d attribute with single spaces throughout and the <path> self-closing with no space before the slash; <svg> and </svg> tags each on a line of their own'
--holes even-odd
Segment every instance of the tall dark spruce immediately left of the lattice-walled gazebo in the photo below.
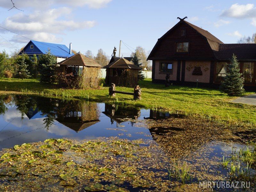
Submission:
<svg viewBox="0 0 256 192">
<path fill-rule="evenodd" d="M 39 57 L 38 60 L 40 67 L 40 82 L 41 83 L 54 83 L 57 74 L 57 59 L 51 54 L 50 50 L 47 54 Z"/>
</svg>

